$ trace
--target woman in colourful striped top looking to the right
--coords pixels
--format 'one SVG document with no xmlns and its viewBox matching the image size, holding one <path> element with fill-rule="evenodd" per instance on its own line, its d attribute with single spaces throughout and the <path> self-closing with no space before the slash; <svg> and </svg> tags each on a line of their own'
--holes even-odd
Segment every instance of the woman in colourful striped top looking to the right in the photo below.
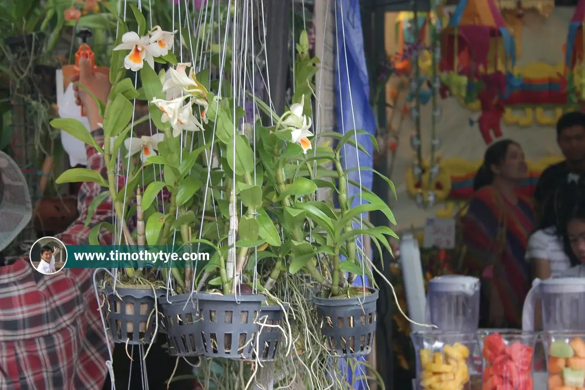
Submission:
<svg viewBox="0 0 585 390">
<path fill-rule="evenodd" d="M 474 178 L 462 222 L 467 269 L 481 279 L 480 327 L 522 327 L 531 285 L 526 244 L 535 219 L 532 205 L 516 190 L 527 174 L 519 144 L 500 140 L 488 147 Z"/>
</svg>

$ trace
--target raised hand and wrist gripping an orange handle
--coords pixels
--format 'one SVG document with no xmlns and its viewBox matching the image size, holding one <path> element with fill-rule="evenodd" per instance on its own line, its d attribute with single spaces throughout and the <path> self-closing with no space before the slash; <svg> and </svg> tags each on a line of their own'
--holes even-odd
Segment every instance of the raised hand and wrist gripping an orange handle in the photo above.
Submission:
<svg viewBox="0 0 585 390">
<path fill-rule="evenodd" d="M 108 94 L 112 86 L 109 83 L 107 75 L 94 71 L 91 67 L 90 60 L 85 57 L 81 57 L 79 60 L 79 74 L 71 77 L 71 81 L 78 82 L 91 92 L 99 101 L 105 103 L 108 99 Z M 91 130 L 96 129 L 97 123 L 103 122 L 99 115 L 99 108 L 97 103 L 91 96 L 85 92 L 83 88 L 79 88 L 77 85 L 73 85 L 73 91 L 75 92 L 75 103 L 83 105 L 85 115 L 90 121 L 92 126 Z"/>
</svg>

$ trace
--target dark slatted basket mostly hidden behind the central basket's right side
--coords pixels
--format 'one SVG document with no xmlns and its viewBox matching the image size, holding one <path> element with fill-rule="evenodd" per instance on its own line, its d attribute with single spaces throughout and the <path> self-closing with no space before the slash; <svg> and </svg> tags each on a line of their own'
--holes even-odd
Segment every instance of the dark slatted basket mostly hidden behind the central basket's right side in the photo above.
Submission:
<svg viewBox="0 0 585 390">
<path fill-rule="evenodd" d="M 284 310 L 288 310 L 288 305 L 283 306 Z M 274 325 L 284 328 L 283 308 L 278 305 L 262 306 L 258 316 L 258 323 L 260 324 L 257 343 L 259 360 L 275 360 L 283 331 Z"/>
</svg>

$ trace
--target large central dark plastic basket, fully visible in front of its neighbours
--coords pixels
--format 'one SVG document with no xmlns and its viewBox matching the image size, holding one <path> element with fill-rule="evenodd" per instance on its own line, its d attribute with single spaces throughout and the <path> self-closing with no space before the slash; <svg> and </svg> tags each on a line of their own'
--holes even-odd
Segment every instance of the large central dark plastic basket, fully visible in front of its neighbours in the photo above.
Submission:
<svg viewBox="0 0 585 390">
<path fill-rule="evenodd" d="M 201 335 L 205 357 L 248 360 L 259 325 L 262 295 L 198 294 Z"/>
</svg>

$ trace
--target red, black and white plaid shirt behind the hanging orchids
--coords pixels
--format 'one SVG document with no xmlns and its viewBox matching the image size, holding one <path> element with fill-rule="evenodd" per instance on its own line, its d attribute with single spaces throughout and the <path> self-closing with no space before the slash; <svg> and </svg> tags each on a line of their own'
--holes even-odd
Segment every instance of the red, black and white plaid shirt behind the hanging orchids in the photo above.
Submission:
<svg viewBox="0 0 585 390">
<path fill-rule="evenodd" d="M 103 145 L 102 130 L 94 136 Z M 88 168 L 105 175 L 104 158 L 94 147 L 85 149 Z M 88 206 L 104 190 L 95 183 L 81 185 L 79 218 L 58 239 L 87 245 L 92 227 L 112 222 L 108 198 L 84 226 Z M 99 240 L 112 244 L 112 234 L 102 229 Z M 33 270 L 28 257 L 0 267 L 0 390 L 102 389 L 109 354 L 93 271 L 64 268 L 43 275 Z"/>
</svg>

